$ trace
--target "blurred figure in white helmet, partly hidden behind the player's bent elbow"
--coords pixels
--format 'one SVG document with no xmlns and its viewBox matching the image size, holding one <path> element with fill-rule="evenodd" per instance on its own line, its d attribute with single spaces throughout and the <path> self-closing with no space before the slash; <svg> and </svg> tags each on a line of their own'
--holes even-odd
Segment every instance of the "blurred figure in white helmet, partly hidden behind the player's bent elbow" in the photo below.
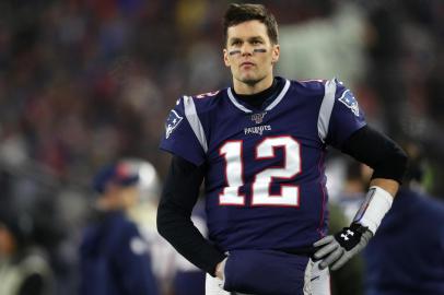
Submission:
<svg viewBox="0 0 444 295">
<path fill-rule="evenodd" d="M 161 235 L 155 220 L 160 201 L 161 181 L 155 167 L 140 158 L 120 161 L 132 167 L 130 173 L 137 179 L 131 186 L 132 200 L 126 211 L 145 239 L 156 278 L 160 294 L 200 295 L 205 294 L 205 273 L 179 255 Z M 194 224 L 207 235 L 205 208 L 200 201 L 191 214 Z"/>
</svg>

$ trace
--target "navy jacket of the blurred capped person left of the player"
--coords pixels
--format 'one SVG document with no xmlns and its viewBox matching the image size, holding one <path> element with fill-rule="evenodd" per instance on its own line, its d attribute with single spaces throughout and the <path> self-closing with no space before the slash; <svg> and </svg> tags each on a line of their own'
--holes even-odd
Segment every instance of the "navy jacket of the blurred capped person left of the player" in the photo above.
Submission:
<svg viewBox="0 0 444 295">
<path fill-rule="evenodd" d="M 156 295 L 147 245 L 122 212 L 85 229 L 80 248 L 82 295 Z"/>
</svg>

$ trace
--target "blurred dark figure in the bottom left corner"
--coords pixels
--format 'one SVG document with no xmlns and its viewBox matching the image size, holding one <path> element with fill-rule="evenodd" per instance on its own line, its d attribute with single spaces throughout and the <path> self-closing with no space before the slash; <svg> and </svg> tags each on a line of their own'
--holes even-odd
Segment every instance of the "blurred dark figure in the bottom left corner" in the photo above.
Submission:
<svg viewBox="0 0 444 295">
<path fill-rule="evenodd" d="M 50 295 L 54 278 L 44 250 L 33 244 L 34 221 L 4 208 L 0 212 L 0 294 Z"/>
</svg>

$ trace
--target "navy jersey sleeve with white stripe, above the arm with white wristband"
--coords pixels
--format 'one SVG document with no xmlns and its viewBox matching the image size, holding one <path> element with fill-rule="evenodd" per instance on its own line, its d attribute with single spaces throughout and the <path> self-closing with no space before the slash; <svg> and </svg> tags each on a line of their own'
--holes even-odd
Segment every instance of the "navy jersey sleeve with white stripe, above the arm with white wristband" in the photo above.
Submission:
<svg viewBox="0 0 444 295">
<path fill-rule="evenodd" d="M 319 121 L 320 139 L 337 149 L 341 149 L 353 132 L 366 125 L 354 94 L 336 79 L 325 85 Z"/>
</svg>

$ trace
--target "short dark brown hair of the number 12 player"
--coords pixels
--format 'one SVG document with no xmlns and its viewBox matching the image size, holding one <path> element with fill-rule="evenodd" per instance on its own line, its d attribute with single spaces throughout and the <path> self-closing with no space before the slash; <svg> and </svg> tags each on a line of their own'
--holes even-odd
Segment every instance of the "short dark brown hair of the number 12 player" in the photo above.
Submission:
<svg viewBox="0 0 444 295">
<path fill-rule="evenodd" d="M 223 17 L 223 35 L 225 45 L 227 42 L 227 31 L 234 26 L 248 21 L 259 21 L 267 27 L 267 34 L 272 44 L 278 44 L 278 23 L 272 15 L 261 4 L 230 4 Z"/>
</svg>

